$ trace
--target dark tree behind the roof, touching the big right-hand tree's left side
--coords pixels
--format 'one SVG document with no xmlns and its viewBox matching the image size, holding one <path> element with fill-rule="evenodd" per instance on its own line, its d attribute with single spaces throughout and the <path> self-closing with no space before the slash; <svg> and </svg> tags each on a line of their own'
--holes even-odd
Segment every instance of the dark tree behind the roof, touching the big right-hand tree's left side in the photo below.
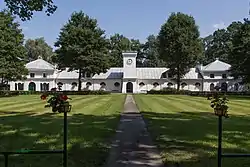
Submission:
<svg viewBox="0 0 250 167">
<path fill-rule="evenodd" d="M 143 45 L 143 53 L 145 55 L 145 67 L 163 67 L 164 61 L 159 59 L 158 40 L 155 35 L 149 35 L 146 43 Z"/>
</svg>

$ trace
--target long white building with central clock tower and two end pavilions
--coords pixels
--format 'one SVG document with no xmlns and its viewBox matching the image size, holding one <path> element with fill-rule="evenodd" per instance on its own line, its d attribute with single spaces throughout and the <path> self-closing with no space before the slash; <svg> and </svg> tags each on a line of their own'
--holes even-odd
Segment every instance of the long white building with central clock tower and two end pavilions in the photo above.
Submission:
<svg viewBox="0 0 250 167">
<path fill-rule="evenodd" d="M 145 93 L 166 87 L 176 88 L 177 84 L 168 73 L 168 68 L 136 67 L 136 52 L 123 53 L 123 68 L 110 68 L 106 73 L 86 75 L 82 79 L 84 90 L 107 90 L 122 93 Z M 227 91 L 244 91 L 240 80 L 229 76 L 231 66 L 216 60 L 206 66 L 198 65 L 181 79 L 181 89 L 191 91 L 212 91 L 216 86 Z M 62 90 L 77 90 L 77 71 L 56 70 L 50 63 L 37 59 L 26 64 L 29 75 L 25 81 L 11 82 L 10 90 L 44 91 L 58 85 Z"/>
</svg>

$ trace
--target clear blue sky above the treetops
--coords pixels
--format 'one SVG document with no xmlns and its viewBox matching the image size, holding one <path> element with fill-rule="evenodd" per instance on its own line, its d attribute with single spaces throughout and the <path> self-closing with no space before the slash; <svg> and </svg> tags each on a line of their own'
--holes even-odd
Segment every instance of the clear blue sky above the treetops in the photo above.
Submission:
<svg viewBox="0 0 250 167">
<path fill-rule="evenodd" d="M 0 0 L 0 8 L 3 4 Z M 171 12 L 192 15 L 201 36 L 206 36 L 232 21 L 242 21 L 249 10 L 249 0 L 55 0 L 55 4 L 54 15 L 39 12 L 31 21 L 21 22 L 26 39 L 44 37 L 53 46 L 60 28 L 79 10 L 96 18 L 108 36 L 120 33 L 142 42 L 159 32 Z"/>
</svg>

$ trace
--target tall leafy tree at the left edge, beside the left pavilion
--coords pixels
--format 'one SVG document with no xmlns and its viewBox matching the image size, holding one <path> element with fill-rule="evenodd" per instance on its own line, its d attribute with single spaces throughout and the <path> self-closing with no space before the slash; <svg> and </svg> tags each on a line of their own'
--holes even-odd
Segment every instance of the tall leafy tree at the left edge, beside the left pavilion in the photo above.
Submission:
<svg viewBox="0 0 250 167">
<path fill-rule="evenodd" d="M 19 24 L 7 11 L 0 12 L 0 79 L 1 88 L 9 81 L 25 79 L 28 70 L 25 68 L 24 35 Z"/>
</svg>

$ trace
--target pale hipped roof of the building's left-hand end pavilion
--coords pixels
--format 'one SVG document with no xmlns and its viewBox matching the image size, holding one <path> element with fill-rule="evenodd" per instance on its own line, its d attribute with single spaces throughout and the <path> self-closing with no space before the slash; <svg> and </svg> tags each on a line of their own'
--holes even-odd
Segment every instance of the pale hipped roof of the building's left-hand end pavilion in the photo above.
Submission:
<svg viewBox="0 0 250 167">
<path fill-rule="evenodd" d="M 43 59 L 31 61 L 25 65 L 29 70 L 55 70 L 54 66 Z"/>
</svg>

